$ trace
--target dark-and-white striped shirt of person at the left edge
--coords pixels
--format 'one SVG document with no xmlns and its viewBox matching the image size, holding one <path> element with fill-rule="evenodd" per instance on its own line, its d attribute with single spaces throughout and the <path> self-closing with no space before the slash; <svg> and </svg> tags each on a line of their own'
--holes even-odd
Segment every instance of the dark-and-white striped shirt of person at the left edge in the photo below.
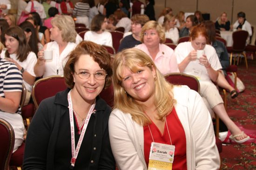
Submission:
<svg viewBox="0 0 256 170">
<path fill-rule="evenodd" d="M 0 58 L 0 97 L 4 92 L 22 92 L 22 75 L 15 64 Z M 20 107 L 16 113 L 21 113 Z"/>
</svg>

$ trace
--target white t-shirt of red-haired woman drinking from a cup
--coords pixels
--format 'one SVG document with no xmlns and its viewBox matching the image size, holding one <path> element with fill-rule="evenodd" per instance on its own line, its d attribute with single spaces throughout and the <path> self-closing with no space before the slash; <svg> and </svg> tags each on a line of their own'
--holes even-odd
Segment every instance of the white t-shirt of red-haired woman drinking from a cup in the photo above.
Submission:
<svg viewBox="0 0 256 170">
<path fill-rule="evenodd" d="M 195 50 L 195 49 L 192 47 L 191 42 L 184 42 L 184 43 L 178 44 L 174 50 L 175 56 L 177 58 L 177 63 L 178 64 L 181 63 L 189 55 L 189 52 L 192 50 Z M 211 45 L 208 45 L 208 44 L 205 45 L 203 50 L 209 63 L 211 64 L 211 67 L 214 70 L 222 69 L 222 65 L 216 54 L 216 50 Z M 193 75 L 197 77 L 199 81 L 211 82 L 211 79 L 208 75 L 206 68 L 203 65 L 199 64 L 198 60 L 191 61 L 187 65 L 187 67 L 184 69 L 183 73 L 186 73 L 188 75 Z"/>
</svg>

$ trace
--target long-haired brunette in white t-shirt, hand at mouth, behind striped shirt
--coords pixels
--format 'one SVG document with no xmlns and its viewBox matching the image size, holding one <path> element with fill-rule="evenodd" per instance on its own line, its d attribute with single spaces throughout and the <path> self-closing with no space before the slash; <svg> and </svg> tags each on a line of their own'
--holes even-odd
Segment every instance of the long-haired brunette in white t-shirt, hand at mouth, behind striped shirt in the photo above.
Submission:
<svg viewBox="0 0 256 170">
<path fill-rule="evenodd" d="M 27 44 L 24 31 L 18 26 L 10 27 L 5 32 L 5 46 L 7 50 L 2 50 L 1 58 L 14 63 L 22 73 L 23 83 L 27 89 L 26 105 L 30 100 L 32 85 L 35 81 L 36 55 Z"/>
</svg>

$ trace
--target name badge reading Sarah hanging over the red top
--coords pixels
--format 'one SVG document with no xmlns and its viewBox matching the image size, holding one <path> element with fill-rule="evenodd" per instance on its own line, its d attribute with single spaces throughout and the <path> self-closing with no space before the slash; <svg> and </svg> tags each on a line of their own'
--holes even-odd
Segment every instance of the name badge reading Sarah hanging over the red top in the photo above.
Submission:
<svg viewBox="0 0 256 170">
<path fill-rule="evenodd" d="M 151 143 L 148 170 L 172 170 L 175 145 Z"/>
</svg>

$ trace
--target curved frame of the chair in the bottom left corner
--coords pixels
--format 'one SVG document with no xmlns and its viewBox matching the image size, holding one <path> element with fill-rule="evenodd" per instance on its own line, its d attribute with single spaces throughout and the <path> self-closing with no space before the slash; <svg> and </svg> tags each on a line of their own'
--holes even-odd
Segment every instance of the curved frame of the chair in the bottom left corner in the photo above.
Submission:
<svg viewBox="0 0 256 170">
<path fill-rule="evenodd" d="M 10 134 L 9 139 L 8 139 L 9 147 L 8 147 L 7 155 L 4 159 L 4 167 L 0 167 L 0 168 L 3 168 L 3 170 L 9 170 L 9 163 L 10 163 L 10 159 L 11 159 L 11 155 L 12 155 L 13 147 L 14 147 L 14 142 L 15 142 L 14 131 L 13 131 L 13 127 L 10 125 L 10 123 L 4 119 L 0 119 L 0 125 L 4 126 Z"/>
</svg>

